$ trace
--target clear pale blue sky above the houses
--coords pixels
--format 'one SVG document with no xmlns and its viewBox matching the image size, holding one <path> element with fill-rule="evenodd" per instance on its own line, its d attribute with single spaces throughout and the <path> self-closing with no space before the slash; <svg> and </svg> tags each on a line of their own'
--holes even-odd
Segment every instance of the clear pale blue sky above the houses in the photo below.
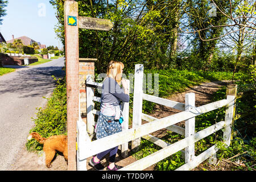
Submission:
<svg viewBox="0 0 256 182">
<path fill-rule="evenodd" d="M 6 16 L 3 16 L 0 31 L 5 40 L 27 36 L 46 44 L 63 47 L 54 28 L 57 24 L 55 9 L 49 0 L 9 0 Z"/>
</svg>

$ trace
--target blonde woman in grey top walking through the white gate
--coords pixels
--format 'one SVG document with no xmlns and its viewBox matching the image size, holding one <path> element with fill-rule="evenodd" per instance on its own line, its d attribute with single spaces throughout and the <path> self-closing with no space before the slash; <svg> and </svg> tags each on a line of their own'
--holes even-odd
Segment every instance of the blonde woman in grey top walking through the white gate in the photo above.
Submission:
<svg viewBox="0 0 256 182">
<path fill-rule="evenodd" d="M 107 69 L 107 77 L 104 78 L 102 84 L 101 109 L 96 125 L 96 138 L 100 139 L 119 133 L 122 131 L 122 110 L 121 101 L 129 102 L 128 85 L 125 79 L 122 79 L 123 63 L 120 61 L 110 61 Z M 122 82 L 122 88 L 120 84 Z M 121 166 L 115 165 L 115 155 L 117 154 L 118 146 L 110 148 L 94 156 L 90 160 L 90 164 L 96 170 L 104 169 L 100 160 L 109 153 L 108 171 L 117 171 Z"/>
</svg>

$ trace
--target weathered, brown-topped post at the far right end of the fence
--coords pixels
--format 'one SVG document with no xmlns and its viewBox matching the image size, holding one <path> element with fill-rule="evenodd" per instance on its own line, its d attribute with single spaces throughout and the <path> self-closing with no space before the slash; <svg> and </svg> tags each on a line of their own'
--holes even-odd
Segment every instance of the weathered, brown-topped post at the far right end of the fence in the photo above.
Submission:
<svg viewBox="0 0 256 182">
<path fill-rule="evenodd" d="M 237 97 L 237 85 L 229 84 L 226 88 L 226 99 L 228 100 L 228 109 L 226 109 L 225 114 L 225 127 L 223 133 L 224 143 L 228 146 L 230 145 L 230 141 L 232 139 L 232 125 L 234 121 L 235 114 L 235 104 Z"/>
</svg>

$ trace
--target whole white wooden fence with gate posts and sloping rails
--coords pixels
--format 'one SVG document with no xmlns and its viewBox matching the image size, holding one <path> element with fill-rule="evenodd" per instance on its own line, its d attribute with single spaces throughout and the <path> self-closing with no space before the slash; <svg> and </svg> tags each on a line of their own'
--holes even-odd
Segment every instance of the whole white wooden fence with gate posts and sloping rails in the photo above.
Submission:
<svg viewBox="0 0 256 182">
<path fill-rule="evenodd" d="M 129 80 L 128 80 L 129 81 Z M 208 159 L 213 154 L 216 154 L 218 148 L 216 145 L 208 148 L 198 156 L 195 156 L 195 142 L 203 139 L 218 130 L 224 129 L 224 142 L 230 144 L 230 137 L 232 131 L 232 118 L 234 113 L 234 100 L 235 96 L 228 95 L 226 99 L 212 102 L 203 106 L 195 107 L 195 94 L 188 93 L 185 95 L 185 104 L 167 100 L 165 98 L 159 98 L 143 93 L 143 65 L 135 65 L 134 75 L 134 102 L 133 102 L 133 127 L 128 129 L 129 122 L 129 103 L 123 106 L 124 122 L 123 131 L 105 138 L 91 141 L 94 130 L 94 114 L 99 114 L 99 111 L 95 110 L 93 101 L 100 102 L 101 98 L 93 95 L 92 87 L 100 88 L 102 84 L 93 82 L 91 76 L 86 80 L 86 94 L 87 94 L 87 126 L 82 121 L 81 117 L 77 121 L 77 169 L 86 170 L 86 158 L 98 154 L 99 152 L 108 150 L 109 148 L 122 145 L 122 155 L 127 156 L 128 142 L 132 141 L 132 149 L 136 150 L 140 144 L 141 137 L 162 147 L 161 150 L 154 154 L 148 155 L 137 162 L 131 163 L 120 170 L 143 170 L 153 164 L 167 158 L 168 156 L 175 154 L 177 151 L 185 148 L 185 164 L 176 170 L 191 170 Z M 231 93 L 231 92 L 227 92 Z M 142 100 L 155 102 L 160 105 L 173 107 L 181 110 L 180 113 L 169 115 L 164 118 L 154 118 L 150 115 L 142 113 Z M 223 106 L 228 106 L 225 114 L 225 121 L 216 123 L 209 126 L 204 130 L 195 133 L 195 117 L 197 115 L 207 113 L 209 111 L 218 109 Z M 142 125 L 142 119 L 148 121 Z M 185 129 L 180 126 L 176 126 L 176 123 L 185 121 Z M 179 140 L 174 144 L 166 143 L 163 140 L 156 138 L 150 133 L 158 131 L 160 129 L 168 129 L 175 133 L 184 135 L 185 138 Z M 89 136 L 89 135 L 90 136 Z M 112 141 L 112 142 L 110 142 Z"/>
</svg>

